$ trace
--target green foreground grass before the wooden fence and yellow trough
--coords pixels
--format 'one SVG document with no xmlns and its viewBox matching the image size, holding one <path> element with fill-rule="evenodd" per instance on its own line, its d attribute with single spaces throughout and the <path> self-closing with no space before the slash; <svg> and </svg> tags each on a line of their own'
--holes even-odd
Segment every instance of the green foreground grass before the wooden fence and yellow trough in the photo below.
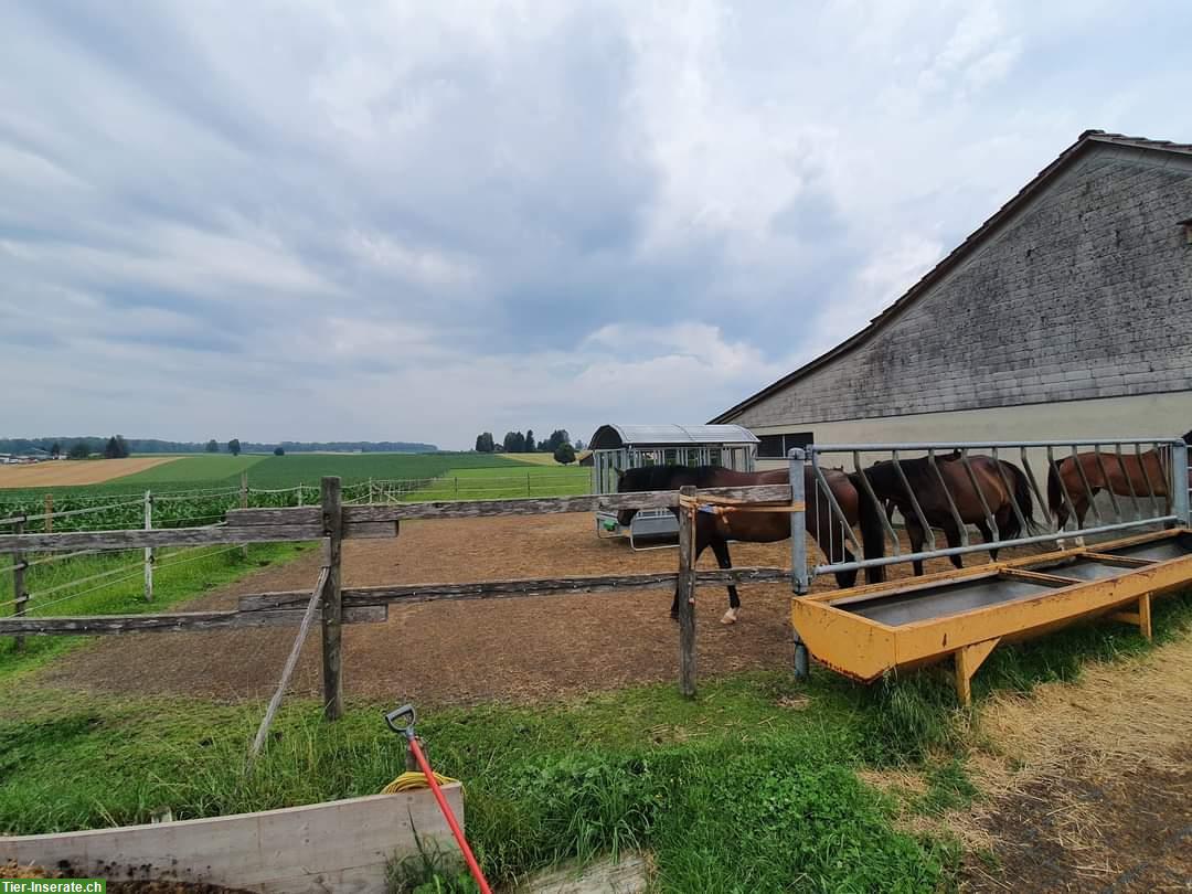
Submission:
<svg viewBox="0 0 1192 894">
<path fill-rule="evenodd" d="M 1155 632 L 1190 635 L 1192 598 L 1159 603 Z M 973 710 L 991 691 L 1148 648 L 1115 625 L 999 648 Z M 6 834 L 143 822 L 162 806 L 186 819 L 367 795 L 404 769 L 381 722 L 391 704 L 352 704 L 328 726 L 318 704 L 288 702 L 246 775 L 262 704 L 67 693 L 13 673 L 0 699 Z M 663 684 L 550 706 L 418 706 L 418 731 L 436 770 L 467 787 L 468 838 L 492 881 L 640 848 L 664 892 L 931 892 L 955 888 L 961 848 L 896 820 L 977 794 L 964 764 L 974 713 L 954 706 L 946 672 L 873 688 L 774 672 L 708 682 L 694 702 Z M 914 766 L 926 789 L 904 803 L 858 776 L 890 765 Z"/>
</svg>

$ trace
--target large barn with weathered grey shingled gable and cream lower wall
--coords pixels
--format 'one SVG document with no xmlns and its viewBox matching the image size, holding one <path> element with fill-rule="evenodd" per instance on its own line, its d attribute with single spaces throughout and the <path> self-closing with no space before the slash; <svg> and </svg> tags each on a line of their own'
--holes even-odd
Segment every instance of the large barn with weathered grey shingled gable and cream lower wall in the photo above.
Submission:
<svg viewBox="0 0 1192 894">
<path fill-rule="evenodd" d="M 865 329 L 712 420 L 811 441 L 1192 429 L 1192 145 L 1086 131 Z"/>
</svg>

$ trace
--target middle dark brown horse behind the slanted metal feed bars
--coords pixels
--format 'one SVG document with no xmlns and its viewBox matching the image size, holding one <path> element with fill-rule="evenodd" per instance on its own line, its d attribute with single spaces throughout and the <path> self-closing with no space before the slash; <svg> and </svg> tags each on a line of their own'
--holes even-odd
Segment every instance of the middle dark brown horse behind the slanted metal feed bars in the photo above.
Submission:
<svg viewBox="0 0 1192 894">
<path fill-rule="evenodd" d="M 1000 472 L 997 464 L 1001 466 Z M 911 552 L 917 553 L 923 550 L 923 544 L 926 540 L 926 530 L 924 530 L 923 524 L 919 522 L 919 516 L 914 511 L 914 504 L 907 493 L 907 484 L 909 484 L 911 491 L 913 491 L 919 508 L 923 510 L 924 520 L 930 527 L 943 529 L 944 536 L 948 538 L 948 546 L 950 547 L 961 545 L 961 529 L 956 524 L 956 517 L 952 515 L 951 507 L 949 505 L 949 493 L 956 504 L 956 511 L 961 517 L 961 522 L 975 524 L 986 542 L 993 540 L 993 529 L 989 527 L 985 505 L 988 505 L 989 513 L 998 526 L 999 540 L 1013 540 L 1023 532 L 1023 524 L 1014 513 L 1014 499 L 1018 501 L 1018 508 L 1023 514 L 1026 528 L 1031 532 L 1042 529 L 1038 522 L 1035 521 L 1030 482 L 1013 462 L 994 460 L 992 457 L 983 455 L 969 457 L 969 466 L 973 470 L 973 478 L 976 479 L 977 488 L 980 488 L 980 493 L 973 486 L 973 480 L 969 478 L 969 473 L 961 461 L 958 451 L 943 457 L 936 457 L 938 474 L 931 467 L 931 459 L 927 457 L 902 459 L 899 460 L 899 465 L 906 476 L 906 484 L 902 483 L 902 478 L 899 476 L 893 460 L 876 462 L 870 466 L 865 470 L 865 478 L 874 489 L 877 499 L 887 507 L 887 514 L 893 515 L 890 510 L 893 505 L 906 520 L 906 533 L 911 540 Z M 940 484 L 940 478 L 943 479 L 943 485 Z M 944 488 L 948 489 L 946 493 L 944 492 Z M 985 497 L 985 504 L 981 501 L 982 496 Z M 877 520 L 875 527 L 874 521 L 865 517 L 871 505 L 871 501 L 862 501 L 862 532 L 876 532 L 882 545 L 879 547 L 867 541 L 865 554 L 868 555 L 873 552 L 881 555 L 886 550 L 881 520 Z M 998 560 L 997 550 L 991 550 L 989 555 L 994 561 Z M 949 558 L 956 567 L 964 566 L 960 555 L 951 555 Z M 914 565 L 914 573 L 921 575 L 923 561 L 915 560 L 912 564 Z"/>
</svg>

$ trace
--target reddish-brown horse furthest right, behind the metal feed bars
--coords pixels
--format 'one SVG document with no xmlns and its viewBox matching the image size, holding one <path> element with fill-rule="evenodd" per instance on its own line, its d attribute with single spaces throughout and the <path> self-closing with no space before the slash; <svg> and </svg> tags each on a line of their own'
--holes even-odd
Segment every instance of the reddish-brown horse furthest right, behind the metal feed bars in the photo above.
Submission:
<svg viewBox="0 0 1192 894">
<path fill-rule="evenodd" d="M 1184 435 L 1184 443 L 1192 443 L 1192 432 Z M 1085 515 L 1092 498 L 1107 490 L 1119 497 L 1168 496 L 1171 449 L 1160 447 L 1143 453 L 1123 453 L 1120 461 L 1115 453 L 1078 453 L 1064 457 L 1047 473 L 1048 509 L 1056 527 L 1063 528 L 1075 514 L 1076 527 L 1085 527 Z M 1056 473 L 1058 470 L 1058 473 Z M 1085 482 L 1088 489 L 1085 489 Z M 1064 498 L 1067 492 L 1067 499 Z"/>
</svg>

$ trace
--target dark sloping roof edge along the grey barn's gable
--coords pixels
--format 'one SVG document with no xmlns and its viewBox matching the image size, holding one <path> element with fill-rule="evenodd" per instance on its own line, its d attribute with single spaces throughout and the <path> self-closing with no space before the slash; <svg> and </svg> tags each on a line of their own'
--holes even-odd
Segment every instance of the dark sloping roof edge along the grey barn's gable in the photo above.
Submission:
<svg viewBox="0 0 1192 894">
<path fill-rule="evenodd" d="M 820 354 L 818 358 L 808 364 L 795 370 L 793 373 L 784 375 L 783 378 L 775 381 L 772 385 L 766 385 L 764 389 L 758 391 L 756 395 L 741 401 L 735 406 L 725 410 L 722 414 L 712 420 L 712 423 L 728 422 L 738 414 L 749 409 L 759 401 L 770 397 L 771 395 L 782 391 L 782 389 L 788 385 L 793 385 L 803 377 L 815 372 L 818 368 L 825 364 L 831 362 L 836 358 L 849 353 L 853 348 L 864 344 L 871 337 L 877 335 L 879 331 L 888 323 L 890 323 L 899 313 L 906 310 L 911 304 L 913 304 L 918 298 L 927 292 L 927 290 L 935 285 L 940 278 L 946 275 L 952 268 L 955 268 L 960 262 L 968 257 L 969 253 L 993 230 L 1000 226 L 1007 218 L 1010 218 L 1018 209 L 1020 209 L 1026 201 L 1032 199 L 1035 195 L 1039 194 L 1050 182 L 1050 180 L 1066 170 L 1070 164 L 1073 164 L 1076 159 L 1084 157 L 1088 151 L 1091 151 L 1095 145 L 1110 143 L 1113 145 L 1122 145 L 1126 148 L 1138 149 L 1142 153 L 1174 153 L 1178 155 L 1192 155 L 1192 144 L 1190 143 L 1173 143 L 1168 139 L 1147 139 L 1146 137 L 1128 137 L 1124 134 L 1107 134 L 1104 130 L 1086 130 L 1075 143 L 1064 149 L 1060 157 L 1048 164 L 1043 170 L 1035 175 L 1035 178 L 1026 184 L 1018 193 L 1010 199 L 1005 205 L 1002 205 L 998 211 L 983 224 L 981 224 L 967 240 L 964 240 L 960 246 L 957 246 L 951 254 L 949 254 L 944 260 L 937 263 L 927 274 L 911 286 L 907 292 L 894 302 L 890 306 L 879 313 L 876 317 L 869 321 L 869 325 L 862 329 L 859 333 L 850 339 L 837 344 L 831 350 Z"/>
</svg>

